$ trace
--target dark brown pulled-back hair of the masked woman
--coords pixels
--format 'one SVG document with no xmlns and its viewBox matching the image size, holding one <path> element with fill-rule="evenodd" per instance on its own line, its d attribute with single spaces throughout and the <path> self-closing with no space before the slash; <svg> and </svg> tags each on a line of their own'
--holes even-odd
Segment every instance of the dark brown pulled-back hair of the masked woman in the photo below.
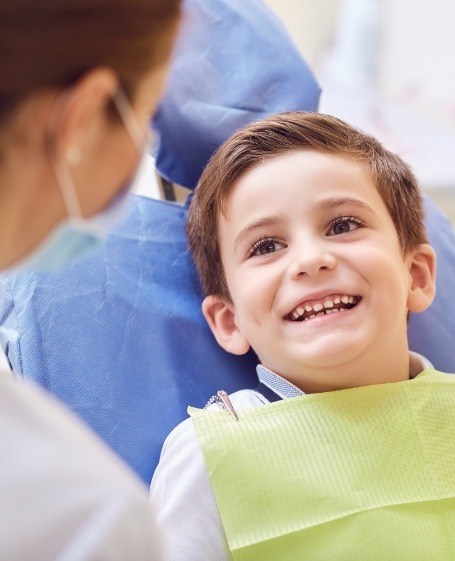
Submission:
<svg viewBox="0 0 455 561">
<path fill-rule="evenodd" d="M 180 0 L 2 0 L 0 123 L 28 96 L 65 88 L 108 66 L 134 95 L 139 79 L 167 61 Z"/>
</svg>

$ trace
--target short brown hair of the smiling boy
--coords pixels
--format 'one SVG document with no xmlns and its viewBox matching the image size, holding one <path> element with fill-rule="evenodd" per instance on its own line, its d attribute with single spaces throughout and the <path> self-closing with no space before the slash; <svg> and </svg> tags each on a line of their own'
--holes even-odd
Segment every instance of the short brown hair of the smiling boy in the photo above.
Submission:
<svg viewBox="0 0 455 561">
<path fill-rule="evenodd" d="M 215 152 L 201 175 L 190 205 L 187 233 L 205 295 L 230 299 L 219 251 L 218 220 L 235 182 L 261 162 L 301 149 L 350 158 L 366 166 L 395 224 L 403 255 L 427 241 L 422 197 L 401 158 L 335 117 L 281 113 L 237 131 Z"/>
</svg>

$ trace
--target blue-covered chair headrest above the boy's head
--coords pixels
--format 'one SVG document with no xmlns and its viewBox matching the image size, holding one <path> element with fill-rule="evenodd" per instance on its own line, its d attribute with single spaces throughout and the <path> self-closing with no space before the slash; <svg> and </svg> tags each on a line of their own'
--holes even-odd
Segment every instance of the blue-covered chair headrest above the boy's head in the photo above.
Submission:
<svg viewBox="0 0 455 561">
<path fill-rule="evenodd" d="M 194 188 L 213 152 L 235 130 L 273 113 L 317 111 L 320 88 L 261 0 L 187 0 L 184 7 L 153 126 L 159 173 Z"/>
</svg>

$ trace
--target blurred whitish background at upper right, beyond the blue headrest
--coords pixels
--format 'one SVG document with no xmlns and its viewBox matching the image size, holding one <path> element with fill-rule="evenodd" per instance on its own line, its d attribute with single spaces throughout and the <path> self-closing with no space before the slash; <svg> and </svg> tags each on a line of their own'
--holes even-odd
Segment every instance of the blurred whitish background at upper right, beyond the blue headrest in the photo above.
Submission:
<svg viewBox="0 0 455 561">
<path fill-rule="evenodd" d="M 455 224 L 455 2 L 266 3 L 321 84 L 320 111 L 397 152 Z"/>
</svg>

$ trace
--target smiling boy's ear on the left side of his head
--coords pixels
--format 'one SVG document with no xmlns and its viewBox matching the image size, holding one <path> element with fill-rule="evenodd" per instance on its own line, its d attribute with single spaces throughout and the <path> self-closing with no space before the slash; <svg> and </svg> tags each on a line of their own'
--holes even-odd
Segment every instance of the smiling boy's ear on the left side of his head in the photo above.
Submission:
<svg viewBox="0 0 455 561">
<path fill-rule="evenodd" d="M 248 352 L 250 344 L 237 327 L 234 305 L 220 296 L 207 296 L 202 313 L 220 347 L 235 355 Z"/>
</svg>

